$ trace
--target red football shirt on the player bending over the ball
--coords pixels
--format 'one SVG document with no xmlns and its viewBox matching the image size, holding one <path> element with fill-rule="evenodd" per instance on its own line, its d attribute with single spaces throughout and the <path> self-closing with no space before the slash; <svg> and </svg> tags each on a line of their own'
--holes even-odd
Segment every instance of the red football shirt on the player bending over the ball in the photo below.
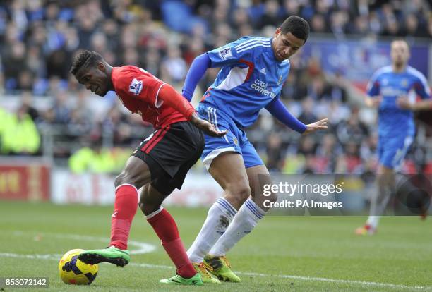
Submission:
<svg viewBox="0 0 432 292">
<path fill-rule="evenodd" d="M 124 106 L 132 113 L 140 114 L 143 121 L 152 123 L 155 128 L 187 121 L 179 111 L 158 101 L 160 89 L 166 83 L 151 73 L 136 66 L 114 67 L 111 79 Z"/>
</svg>

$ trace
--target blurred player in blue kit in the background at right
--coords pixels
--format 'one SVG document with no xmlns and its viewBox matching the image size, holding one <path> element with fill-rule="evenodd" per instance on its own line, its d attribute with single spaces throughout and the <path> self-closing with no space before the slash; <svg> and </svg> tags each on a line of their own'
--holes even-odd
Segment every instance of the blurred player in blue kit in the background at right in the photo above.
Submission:
<svg viewBox="0 0 432 292">
<path fill-rule="evenodd" d="M 390 196 L 395 191 L 397 171 L 414 139 L 413 111 L 432 109 L 431 92 L 426 78 L 411 66 L 409 46 L 402 39 L 391 44 L 391 66 L 378 69 L 368 84 L 366 104 L 378 107 L 378 173 L 377 193 L 371 198 L 371 211 L 356 234 L 376 232 Z M 416 95 L 421 97 L 415 102 Z"/>
</svg>

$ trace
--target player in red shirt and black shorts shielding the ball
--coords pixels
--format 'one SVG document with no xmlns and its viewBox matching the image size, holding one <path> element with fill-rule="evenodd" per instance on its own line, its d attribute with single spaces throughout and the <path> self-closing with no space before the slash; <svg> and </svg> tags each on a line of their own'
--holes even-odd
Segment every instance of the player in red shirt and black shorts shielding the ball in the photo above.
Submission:
<svg viewBox="0 0 432 292">
<path fill-rule="evenodd" d="M 215 137 L 226 132 L 199 118 L 192 105 L 171 85 L 136 66 L 112 67 L 97 52 L 83 51 L 73 61 L 71 73 L 85 88 L 102 97 L 114 90 L 127 109 L 155 126 L 114 181 L 116 197 L 109 247 L 87 250 L 78 258 L 88 264 L 128 264 L 128 236 L 138 207 L 138 189 L 143 187 L 139 207 L 176 266 L 176 275 L 161 282 L 203 284 L 188 260 L 174 219 L 161 204 L 175 188 L 181 188 L 186 173 L 203 152 L 201 130 Z"/>
</svg>

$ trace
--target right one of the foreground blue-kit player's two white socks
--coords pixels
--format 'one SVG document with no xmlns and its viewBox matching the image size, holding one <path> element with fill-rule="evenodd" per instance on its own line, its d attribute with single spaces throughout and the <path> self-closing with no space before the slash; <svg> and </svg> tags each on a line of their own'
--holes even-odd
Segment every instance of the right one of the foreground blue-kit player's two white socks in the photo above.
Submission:
<svg viewBox="0 0 432 292">
<path fill-rule="evenodd" d="M 251 198 L 246 200 L 232 220 L 224 235 L 213 245 L 210 255 L 222 256 L 238 243 L 246 234 L 251 233 L 258 224 L 258 220 L 263 219 L 265 212 L 253 202 Z"/>
</svg>

